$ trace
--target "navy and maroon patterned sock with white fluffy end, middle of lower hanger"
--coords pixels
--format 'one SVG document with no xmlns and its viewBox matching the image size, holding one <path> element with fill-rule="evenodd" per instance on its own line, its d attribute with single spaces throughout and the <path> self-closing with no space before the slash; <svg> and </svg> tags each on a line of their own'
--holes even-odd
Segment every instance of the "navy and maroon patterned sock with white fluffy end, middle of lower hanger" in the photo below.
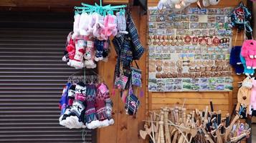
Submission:
<svg viewBox="0 0 256 143">
<path fill-rule="evenodd" d="M 95 129 L 100 127 L 100 122 L 96 117 L 95 109 L 96 87 L 95 85 L 88 85 L 86 89 L 85 99 L 85 124 L 88 129 Z"/>
</svg>

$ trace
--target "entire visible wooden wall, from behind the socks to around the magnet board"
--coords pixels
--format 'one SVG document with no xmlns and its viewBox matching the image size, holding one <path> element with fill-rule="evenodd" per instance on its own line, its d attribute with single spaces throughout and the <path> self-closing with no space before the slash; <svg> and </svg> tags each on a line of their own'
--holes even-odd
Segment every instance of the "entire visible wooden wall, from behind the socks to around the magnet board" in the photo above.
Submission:
<svg viewBox="0 0 256 143">
<path fill-rule="evenodd" d="M 116 0 L 115 0 L 116 1 Z M 107 0 L 106 3 L 113 0 Z M 238 0 L 222 0 L 220 4 L 213 7 L 227 7 L 236 6 L 240 1 Z M 148 0 L 148 6 L 156 6 L 158 0 Z M 147 16 L 140 14 L 140 9 L 138 7 L 133 7 L 132 9 L 133 20 L 136 23 L 137 29 L 140 34 L 140 40 L 143 46 L 146 47 L 147 41 Z M 234 31 L 234 34 L 236 32 Z M 234 40 L 233 40 L 234 44 Z M 237 36 L 236 45 L 242 44 L 241 34 Z M 115 91 L 115 95 L 111 95 L 113 99 L 113 118 L 115 119 L 115 124 L 111 127 L 105 127 L 103 129 L 98 129 L 98 142 L 111 142 L 111 143 L 137 143 L 145 142 L 138 135 L 138 130 L 143 129 L 143 119 L 146 119 L 146 114 L 148 110 L 160 109 L 162 106 L 174 106 L 182 104 L 186 98 L 186 107 L 188 109 L 203 109 L 209 100 L 212 99 L 215 109 L 221 109 L 224 113 L 232 110 L 232 104 L 236 102 L 237 96 L 237 82 L 242 80 L 242 77 L 234 77 L 234 90 L 233 92 L 175 92 L 175 93 L 152 93 L 147 92 L 147 53 L 143 55 L 139 61 L 139 66 L 143 70 L 143 92 L 144 96 L 140 97 L 141 107 L 138 110 L 137 118 L 129 117 L 125 114 L 124 104 L 121 102 L 120 94 Z M 99 63 L 99 74 L 104 77 L 105 83 L 110 87 L 110 92 L 112 92 L 113 87 L 113 74 L 116 63 L 116 54 L 111 48 L 110 58 L 107 63 Z M 137 93 L 138 94 L 138 93 Z"/>
</svg>

